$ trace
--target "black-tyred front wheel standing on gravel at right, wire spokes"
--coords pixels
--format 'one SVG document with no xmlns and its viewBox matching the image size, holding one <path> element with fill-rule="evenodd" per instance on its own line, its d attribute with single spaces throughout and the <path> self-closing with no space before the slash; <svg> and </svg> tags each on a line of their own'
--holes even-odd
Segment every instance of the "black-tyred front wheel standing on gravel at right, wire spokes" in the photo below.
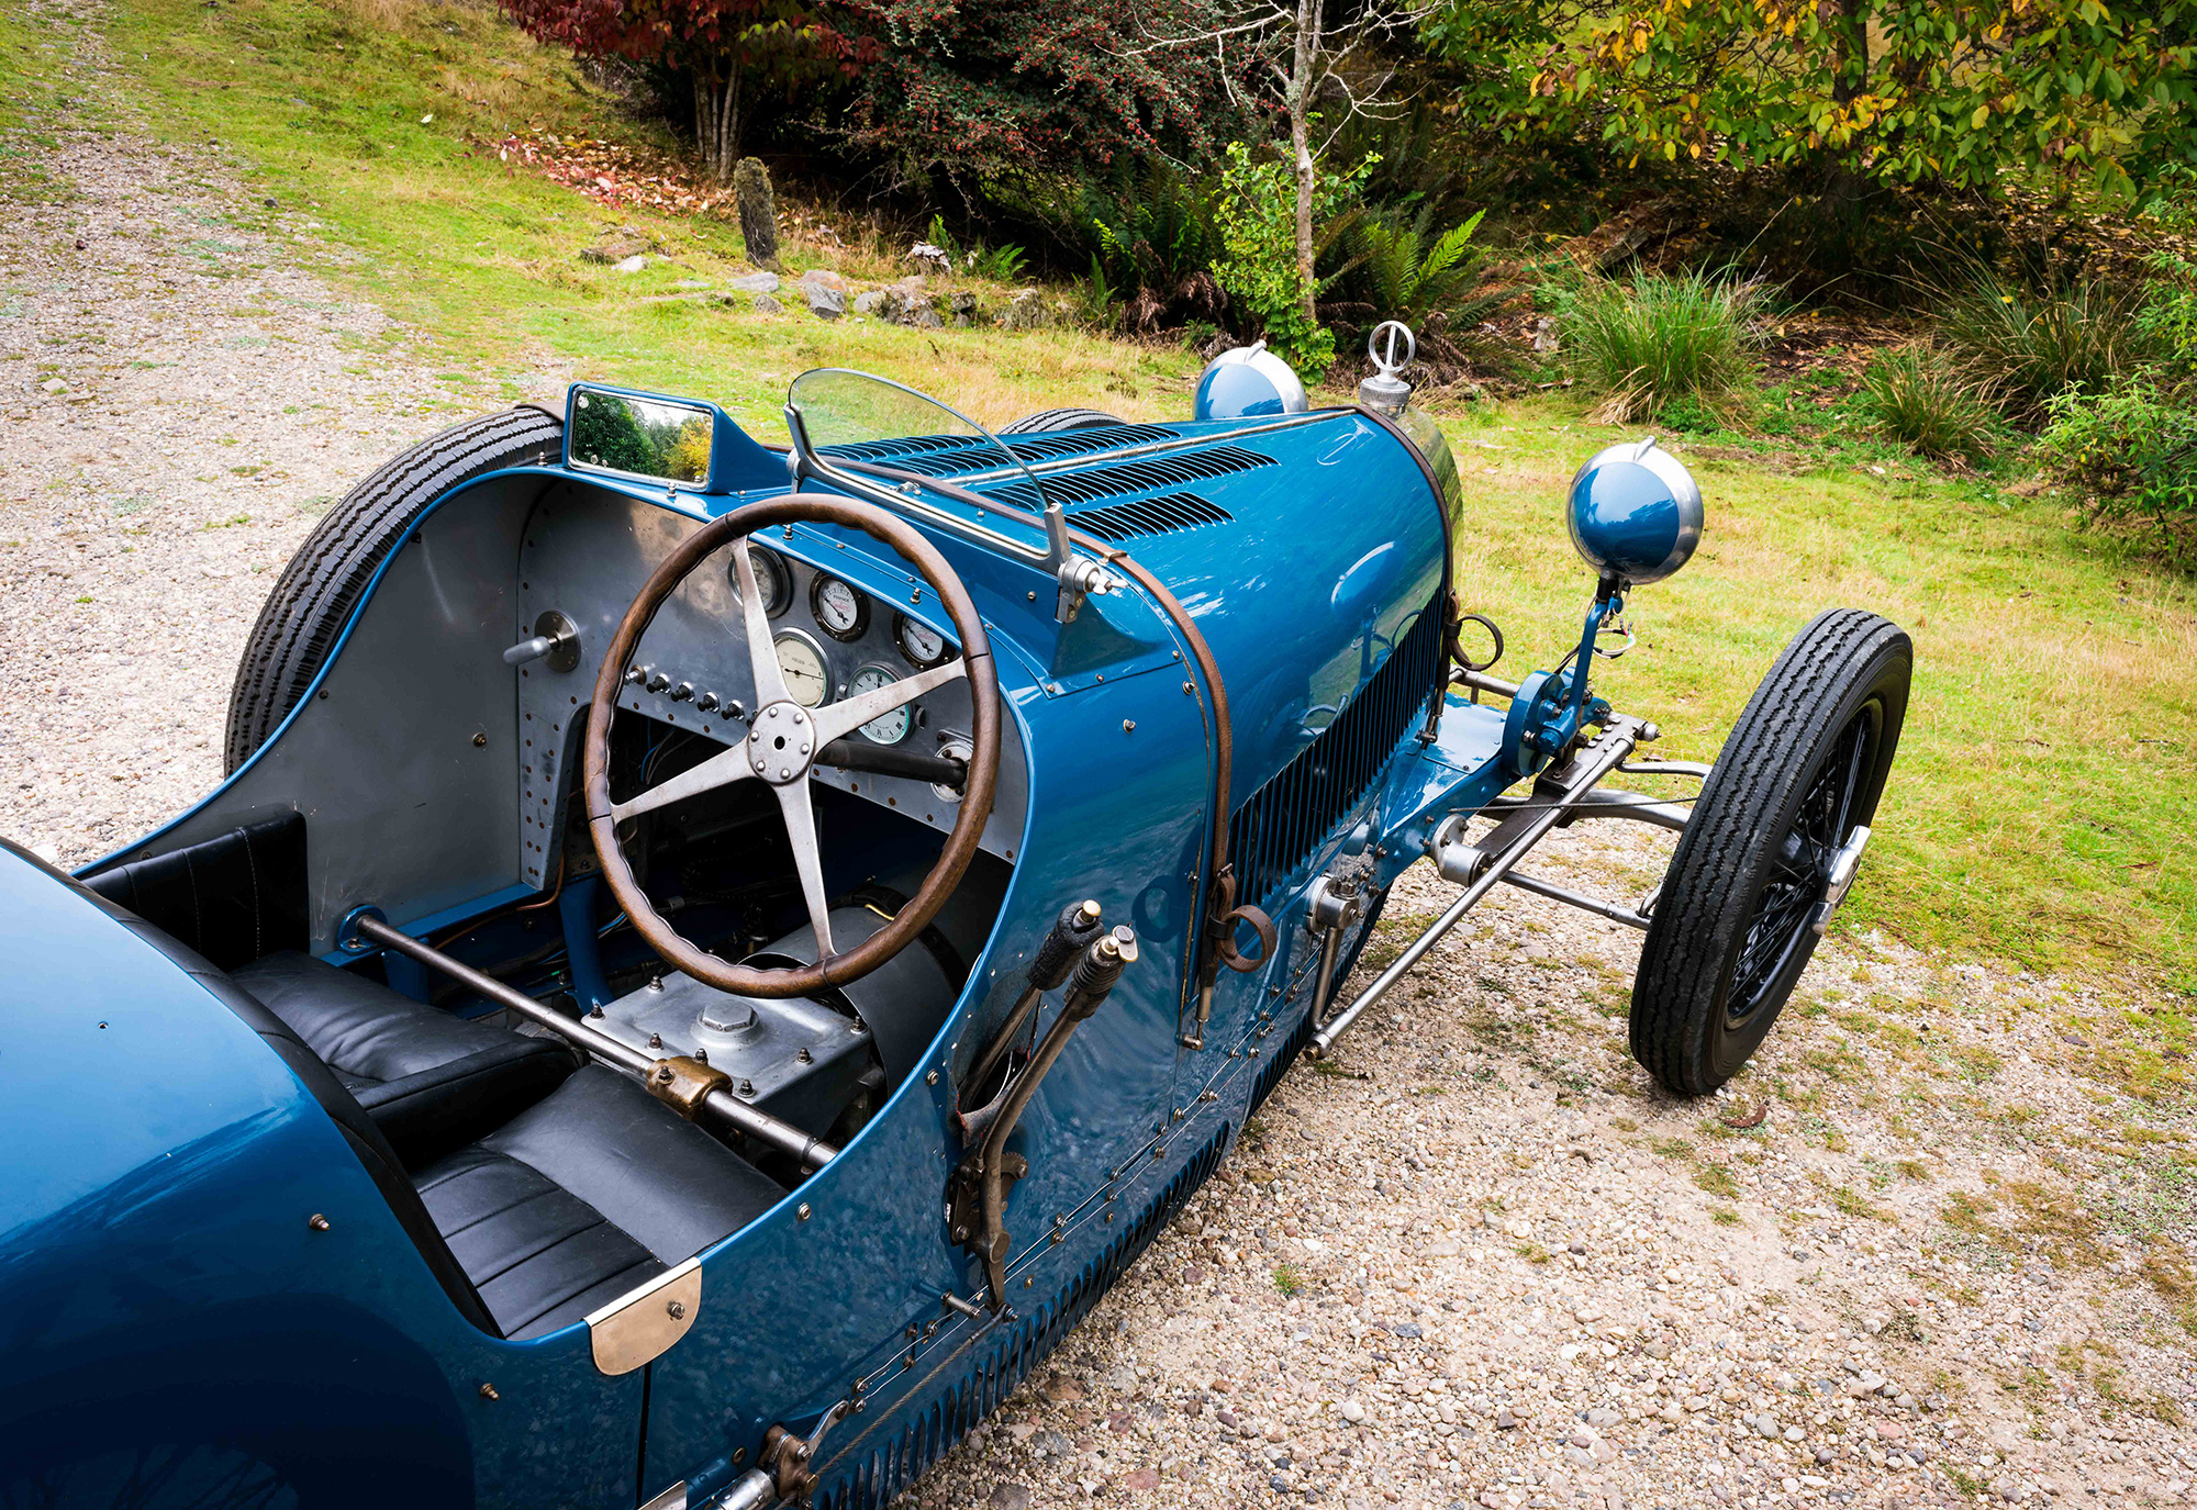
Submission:
<svg viewBox="0 0 2197 1510">
<path fill-rule="evenodd" d="M 1830 854 L 1876 816 L 1911 674 L 1905 630 L 1834 608 L 1725 740 L 1632 977 L 1632 1058 L 1676 1095 L 1736 1075 L 1808 968 Z"/>
</svg>

